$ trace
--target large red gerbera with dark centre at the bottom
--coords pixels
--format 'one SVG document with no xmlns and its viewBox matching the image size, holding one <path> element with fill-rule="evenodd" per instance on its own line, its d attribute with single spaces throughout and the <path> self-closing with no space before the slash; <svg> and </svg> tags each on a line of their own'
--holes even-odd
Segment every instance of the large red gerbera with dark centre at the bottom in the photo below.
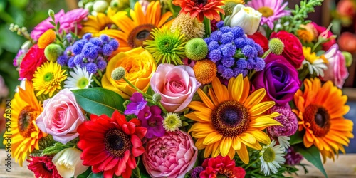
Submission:
<svg viewBox="0 0 356 178">
<path fill-rule="evenodd" d="M 115 111 L 107 115 L 90 115 L 90 121 L 78 127 L 78 147 L 83 150 L 83 165 L 93 166 L 94 173 L 103 172 L 104 177 L 113 174 L 128 178 L 136 167 L 135 157 L 145 152 L 141 139 L 147 129 L 137 127 L 140 121 L 126 121 L 125 115 Z"/>
</svg>

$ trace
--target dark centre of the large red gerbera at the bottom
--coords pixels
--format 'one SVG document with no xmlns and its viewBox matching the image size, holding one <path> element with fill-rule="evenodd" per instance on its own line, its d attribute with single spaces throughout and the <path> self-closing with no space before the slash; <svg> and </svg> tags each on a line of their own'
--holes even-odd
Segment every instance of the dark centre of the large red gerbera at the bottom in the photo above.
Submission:
<svg viewBox="0 0 356 178">
<path fill-rule="evenodd" d="M 118 129 L 109 130 L 104 137 L 105 148 L 113 157 L 122 158 L 132 144 L 130 137 Z"/>
</svg>

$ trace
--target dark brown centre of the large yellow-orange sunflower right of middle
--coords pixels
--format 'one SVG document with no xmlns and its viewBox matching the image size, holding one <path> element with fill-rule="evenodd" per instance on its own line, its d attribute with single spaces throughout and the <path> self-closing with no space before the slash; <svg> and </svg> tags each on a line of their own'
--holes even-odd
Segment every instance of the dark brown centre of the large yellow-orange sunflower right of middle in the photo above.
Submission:
<svg viewBox="0 0 356 178">
<path fill-rule="evenodd" d="M 247 130 L 250 117 L 244 105 L 227 100 L 211 112 L 211 121 L 215 130 L 224 137 L 236 137 Z"/>
</svg>

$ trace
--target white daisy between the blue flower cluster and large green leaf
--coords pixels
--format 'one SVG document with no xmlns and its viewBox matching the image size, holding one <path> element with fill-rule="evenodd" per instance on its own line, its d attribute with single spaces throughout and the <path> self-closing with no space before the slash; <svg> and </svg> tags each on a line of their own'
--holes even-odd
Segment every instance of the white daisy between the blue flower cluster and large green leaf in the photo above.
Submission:
<svg viewBox="0 0 356 178">
<path fill-rule="evenodd" d="M 90 83 L 93 82 L 93 80 L 91 79 L 93 73 L 89 75 L 85 67 L 80 68 L 80 66 L 77 66 L 73 69 L 74 72 L 70 71 L 70 77 L 68 77 L 67 80 L 64 81 L 64 88 L 68 88 L 70 90 L 88 88 Z"/>
</svg>

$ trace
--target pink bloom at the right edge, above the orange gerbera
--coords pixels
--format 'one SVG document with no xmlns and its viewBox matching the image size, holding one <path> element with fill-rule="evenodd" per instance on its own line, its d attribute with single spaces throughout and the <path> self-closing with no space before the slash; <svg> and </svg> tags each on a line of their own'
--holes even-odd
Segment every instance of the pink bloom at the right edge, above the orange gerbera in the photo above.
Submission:
<svg viewBox="0 0 356 178">
<path fill-rule="evenodd" d="M 338 87 L 342 88 L 345 79 L 349 75 L 346 67 L 345 57 L 342 55 L 337 44 L 330 47 L 328 51 L 325 52 L 325 58 L 328 59 L 328 69 L 325 70 L 325 75 L 323 80 L 331 80 Z"/>
</svg>

